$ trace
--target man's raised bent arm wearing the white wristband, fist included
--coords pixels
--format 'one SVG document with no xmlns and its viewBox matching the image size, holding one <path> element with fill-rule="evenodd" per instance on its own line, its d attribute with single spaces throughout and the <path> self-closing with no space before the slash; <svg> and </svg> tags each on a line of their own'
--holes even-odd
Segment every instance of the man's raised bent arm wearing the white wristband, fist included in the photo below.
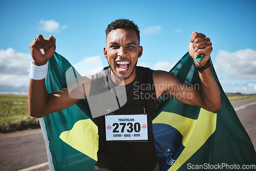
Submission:
<svg viewBox="0 0 256 171">
<path fill-rule="evenodd" d="M 42 55 L 39 49 L 44 49 L 45 54 Z M 53 36 L 42 37 L 42 35 L 38 35 L 30 44 L 33 61 L 31 63 L 28 105 L 29 114 L 33 117 L 44 117 L 50 113 L 66 109 L 79 101 L 79 99 L 69 96 L 67 88 L 51 94 L 47 92 L 45 86 L 47 61 L 53 56 L 55 49 Z"/>
</svg>

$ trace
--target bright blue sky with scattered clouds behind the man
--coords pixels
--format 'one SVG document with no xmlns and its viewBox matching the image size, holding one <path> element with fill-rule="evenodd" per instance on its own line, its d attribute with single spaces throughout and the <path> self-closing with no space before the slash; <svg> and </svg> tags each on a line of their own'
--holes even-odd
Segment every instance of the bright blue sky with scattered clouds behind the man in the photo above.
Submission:
<svg viewBox="0 0 256 171">
<path fill-rule="evenodd" d="M 138 65 L 171 69 L 187 52 L 191 33 L 211 39 L 225 92 L 256 93 L 255 1 L 1 1 L 0 93 L 27 92 L 30 42 L 53 35 L 56 52 L 73 65 L 100 55 L 105 29 L 117 18 L 141 31 Z"/>
</svg>

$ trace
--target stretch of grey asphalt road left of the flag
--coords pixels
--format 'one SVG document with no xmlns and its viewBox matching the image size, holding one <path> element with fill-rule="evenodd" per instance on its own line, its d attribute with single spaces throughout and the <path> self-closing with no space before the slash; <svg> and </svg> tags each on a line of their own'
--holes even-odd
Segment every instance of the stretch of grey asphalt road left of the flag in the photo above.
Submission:
<svg viewBox="0 0 256 171">
<path fill-rule="evenodd" d="M 0 134 L 0 170 L 20 170 L 47 161 L 41 129 Z"/>
</svg>

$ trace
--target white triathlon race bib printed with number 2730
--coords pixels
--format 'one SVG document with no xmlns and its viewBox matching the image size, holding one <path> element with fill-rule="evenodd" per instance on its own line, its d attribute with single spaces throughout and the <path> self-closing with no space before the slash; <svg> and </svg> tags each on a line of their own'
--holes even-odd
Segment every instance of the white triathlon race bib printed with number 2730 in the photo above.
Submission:
<svg viewBox="0 0 256 171">
<path fill-rule="evenodd" d="M 147 141 L 147 115 L 105 115 L 106 141 Z"/>
</svg>

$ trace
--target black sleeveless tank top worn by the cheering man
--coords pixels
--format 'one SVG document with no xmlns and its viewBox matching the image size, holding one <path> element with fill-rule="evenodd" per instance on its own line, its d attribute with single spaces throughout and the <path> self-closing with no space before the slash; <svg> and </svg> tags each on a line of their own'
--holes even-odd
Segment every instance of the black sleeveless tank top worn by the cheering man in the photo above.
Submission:
<svg viewBox="0 0 256 171">
<path fill-rule="evenodd" d="M 111 69 L 106 67 L 100 73 L 93 75 L 92 80 L 102 77 L 102 88 L 105 90 L 111 89 L 115 86 L 115 83 L 110 79 L 110 76 L 106 77 L 110 75 L 110 72 Z M 157 99 L 152 73 L 153 70 L 149 68 L 137 67 L 135 79 L 125 85 L 126 103 L 113 112 L 118 114 L 144 113 L 145 109 L 147 113 L 148 141 L 106 141 L 105 116 L 97 117 L 99 135 L 97 166 L 117 171 L 150 171 L 155 168 L 158 160 L 152 131 L 152 116 L 156 109 Z M 93 89 L 92 83 L 90 94 L 94 91 Z"/>
</svg>

